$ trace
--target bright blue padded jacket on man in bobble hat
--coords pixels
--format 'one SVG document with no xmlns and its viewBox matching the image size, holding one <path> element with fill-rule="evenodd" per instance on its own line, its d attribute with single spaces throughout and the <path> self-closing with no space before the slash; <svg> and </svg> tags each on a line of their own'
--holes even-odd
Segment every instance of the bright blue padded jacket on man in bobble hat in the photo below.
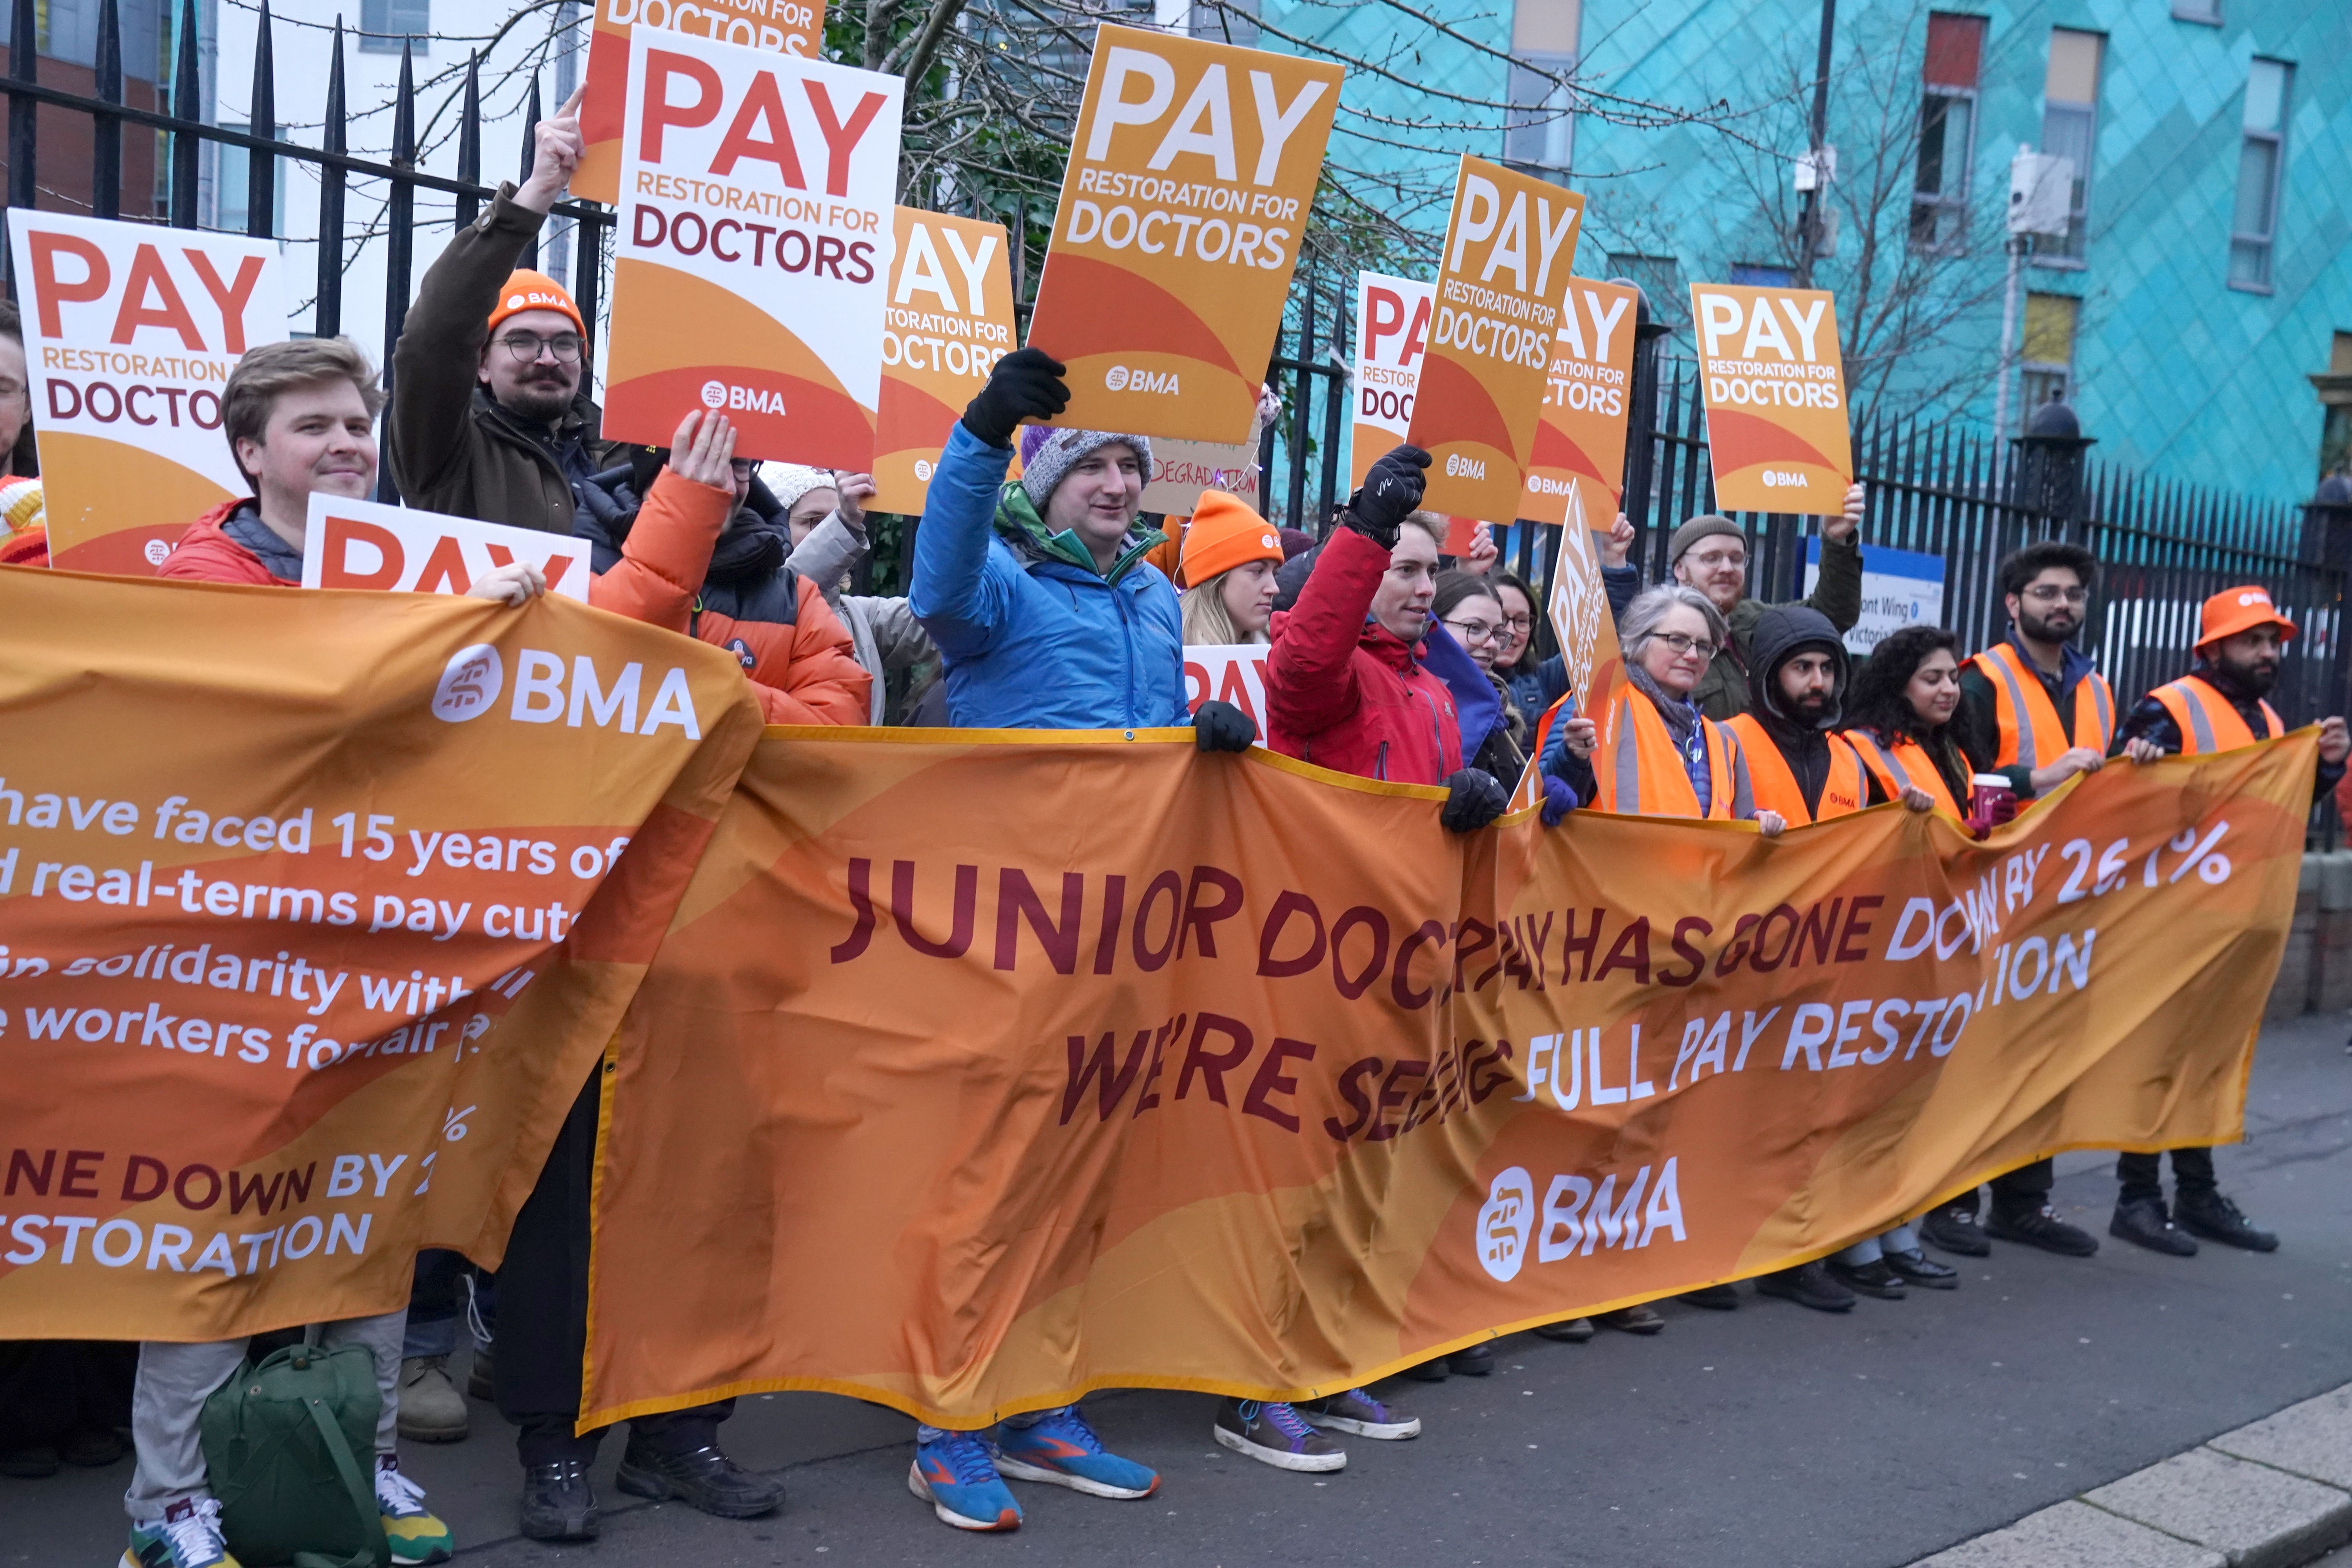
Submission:
<svg viewBox="0 0 2352 1568">
<path fill-rule="evenodd" d="M 1127 536 L 1110 574 L 1070 536 L 1047 534 L 1011 447 L 962 421 L 931 475 L 908 599 L 948 663 L 957 729 L 1148 729 L 1190 724 L 1176 588 Z"/>
</svg>

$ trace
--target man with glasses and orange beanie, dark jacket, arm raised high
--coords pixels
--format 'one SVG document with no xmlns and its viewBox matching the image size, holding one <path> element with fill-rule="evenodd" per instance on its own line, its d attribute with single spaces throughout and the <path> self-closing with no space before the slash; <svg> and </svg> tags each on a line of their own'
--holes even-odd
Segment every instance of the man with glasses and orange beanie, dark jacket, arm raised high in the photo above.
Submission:
<svg viewBox="0 0 2352 1568">
<path fill-rule="evenodd" d="M 626 461 L 586 393 L 572 294 L 517 270 L 581 160 L 579 94 L 536 127 L 532 174 L 449 240 L 393 346 L 386 454 L 409 505 L 569 534 L 574 482 Z"/>
</svg>

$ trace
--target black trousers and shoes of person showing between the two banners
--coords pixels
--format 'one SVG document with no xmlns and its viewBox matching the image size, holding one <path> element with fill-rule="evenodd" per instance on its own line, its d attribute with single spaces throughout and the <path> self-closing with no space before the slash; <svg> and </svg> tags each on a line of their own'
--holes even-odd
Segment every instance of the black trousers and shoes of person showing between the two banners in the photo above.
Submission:
<svg viewBox="0 0 2352 1568">
<path fill-rule="evenodd" d="M 581 1356 L 588 1349 L 588 1190 L 595 1180 L 595 1117 L 602 1065 L 572 1103 L 548 1150 L 539 1185 L 515 1215 L 499 1265 L 499 1345 L 492 1387 L 499 1415 L 515 1422 L 524 1467 L 590 1460 L 602 1432 L 572 1434 L 581 1410 Z M 630 1427 L 654 1448 L 684 1450 L 717 1441 L 731 1399 Z"/>
</svg>

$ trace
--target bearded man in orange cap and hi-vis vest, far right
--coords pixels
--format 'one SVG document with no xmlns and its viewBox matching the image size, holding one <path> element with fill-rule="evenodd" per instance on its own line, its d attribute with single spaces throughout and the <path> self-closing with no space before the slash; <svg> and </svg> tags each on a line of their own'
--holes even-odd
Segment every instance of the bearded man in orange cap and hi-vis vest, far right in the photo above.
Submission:
<svg viewBox="0 0 2352 1568">
<path fill-rule="evenodd" d="M 2284 736 L 2286 724 L 2267 693 L 2279 682 L 2279 651 L 2293 635 L 2296 623 L 2256 585 L 2206 599 L 2197 616 L 2197 665 L 2140 698 L 2114 738 L 2114 755 L 2133 762 L 2201 757 Z M 2321 719 L 2314 802 L 2343 778 L 2347 752 L 2352 736 L 2345 722 Z M 2213 1185 L 2213 1150 L 2173 1150 L 2171 1213 L 2164 1208 L 2161 1161 L 2161 1154 L 2117 1157 L 2122 1194 L 2107 1222 L 2110 1237 L 2176 1258 L 2197 1255 L 2187 1232 L 2253 1253 L 2277 1251 L 2279 1239 L 2246 1220 Z"/>
</svg>

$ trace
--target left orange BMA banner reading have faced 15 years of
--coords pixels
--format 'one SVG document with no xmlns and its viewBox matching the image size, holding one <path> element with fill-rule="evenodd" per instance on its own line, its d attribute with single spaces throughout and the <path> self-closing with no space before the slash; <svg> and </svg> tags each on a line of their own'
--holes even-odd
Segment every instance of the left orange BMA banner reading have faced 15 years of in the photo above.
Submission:
<svg viewBox="0 0 2352 1568">
<path fill-rule="evenodd" d="M 567 599 L 0 567 L 0 1338 L 494 1265 L 757 724 Z"/>
</svg>

